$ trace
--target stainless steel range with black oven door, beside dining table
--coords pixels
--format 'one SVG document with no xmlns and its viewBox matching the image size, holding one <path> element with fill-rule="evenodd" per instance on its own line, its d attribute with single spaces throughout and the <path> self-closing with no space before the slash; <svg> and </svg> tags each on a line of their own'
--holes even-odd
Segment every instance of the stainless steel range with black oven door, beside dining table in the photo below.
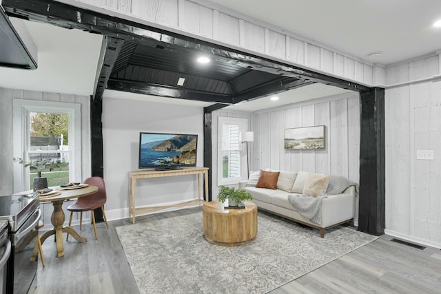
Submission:
<svg viewBox="0 0 441 294">
<path fill-rule="evenodd" d="M 37 262 L 30 262 L 34 242 L 15 253 L 15 248 L 37 229 L 41 217 L 39 193 L 0 196 L 0 220 L 8 220 L 11 254 L 7 266 L 6 293 L 33 293 L 37 285 Z"/>
</svg>

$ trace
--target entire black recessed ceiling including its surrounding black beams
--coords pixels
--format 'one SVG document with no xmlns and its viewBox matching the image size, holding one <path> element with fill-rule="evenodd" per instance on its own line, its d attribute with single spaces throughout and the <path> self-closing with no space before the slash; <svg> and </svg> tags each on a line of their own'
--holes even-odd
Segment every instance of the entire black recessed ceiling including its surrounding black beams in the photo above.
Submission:
<svg viewBox="0 0 441 294">
<path fill-rule="evenodd" d="M 6 13 L 107 37 L 94 99 L 105 88 L 197 101 L 236 104 L 311 83 L 358 92 L 369 87 L 229 48 L 83 10 L 56 1 L 3 0 Z M 211 62 L 195 62 L 200 54 Z M 177 85 L 185 78 L 183 85 Z M 214 108 L 221 107 L 220 105 Z"/>
</svg>

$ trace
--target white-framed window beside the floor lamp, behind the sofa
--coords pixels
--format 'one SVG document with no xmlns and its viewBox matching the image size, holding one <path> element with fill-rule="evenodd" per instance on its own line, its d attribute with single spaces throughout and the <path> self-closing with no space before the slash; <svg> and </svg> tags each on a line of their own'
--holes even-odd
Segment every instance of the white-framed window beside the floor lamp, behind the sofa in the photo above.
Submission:
<svg viewBox="0 0 441 294">
<path fill-rule="evenodd" d="M 218 185 L 232 185 L 242 180 L 246 171 L 246 150 L 239 133 L 247 130 L 244 118 L 219 117 L 218 120 Z"/>
</svg>

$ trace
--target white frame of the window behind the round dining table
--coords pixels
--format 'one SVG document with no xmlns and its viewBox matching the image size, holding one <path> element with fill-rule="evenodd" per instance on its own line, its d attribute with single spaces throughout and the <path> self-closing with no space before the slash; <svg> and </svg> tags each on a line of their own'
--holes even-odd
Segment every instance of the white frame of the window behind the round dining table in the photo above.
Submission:
<svg viewBox="0 0 441 294">
<path fill-rule="evenodd" d="M 30 151 L 30 113 L 45 112 L 68 114 L 69 126 L 69 181 L 81 181 L 81 104 L 54 101 L 13 99 L 13 150 L 14 157 L 28 161 Z M 14 191 L 29 189 L 29 167 L 14 165 Z"/>
</svg>

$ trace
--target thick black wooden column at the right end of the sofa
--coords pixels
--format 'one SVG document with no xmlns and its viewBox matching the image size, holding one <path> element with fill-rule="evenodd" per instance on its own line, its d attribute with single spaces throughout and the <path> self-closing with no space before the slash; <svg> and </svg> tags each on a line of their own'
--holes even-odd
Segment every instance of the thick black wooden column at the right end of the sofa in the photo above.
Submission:
<svg viewBox="0 0 441 294">
<path fill-rule="evenodd" d="M 358 229 L 384 234 L 384 89 L 360 93 L 360 202 Z"/>
</svg>

